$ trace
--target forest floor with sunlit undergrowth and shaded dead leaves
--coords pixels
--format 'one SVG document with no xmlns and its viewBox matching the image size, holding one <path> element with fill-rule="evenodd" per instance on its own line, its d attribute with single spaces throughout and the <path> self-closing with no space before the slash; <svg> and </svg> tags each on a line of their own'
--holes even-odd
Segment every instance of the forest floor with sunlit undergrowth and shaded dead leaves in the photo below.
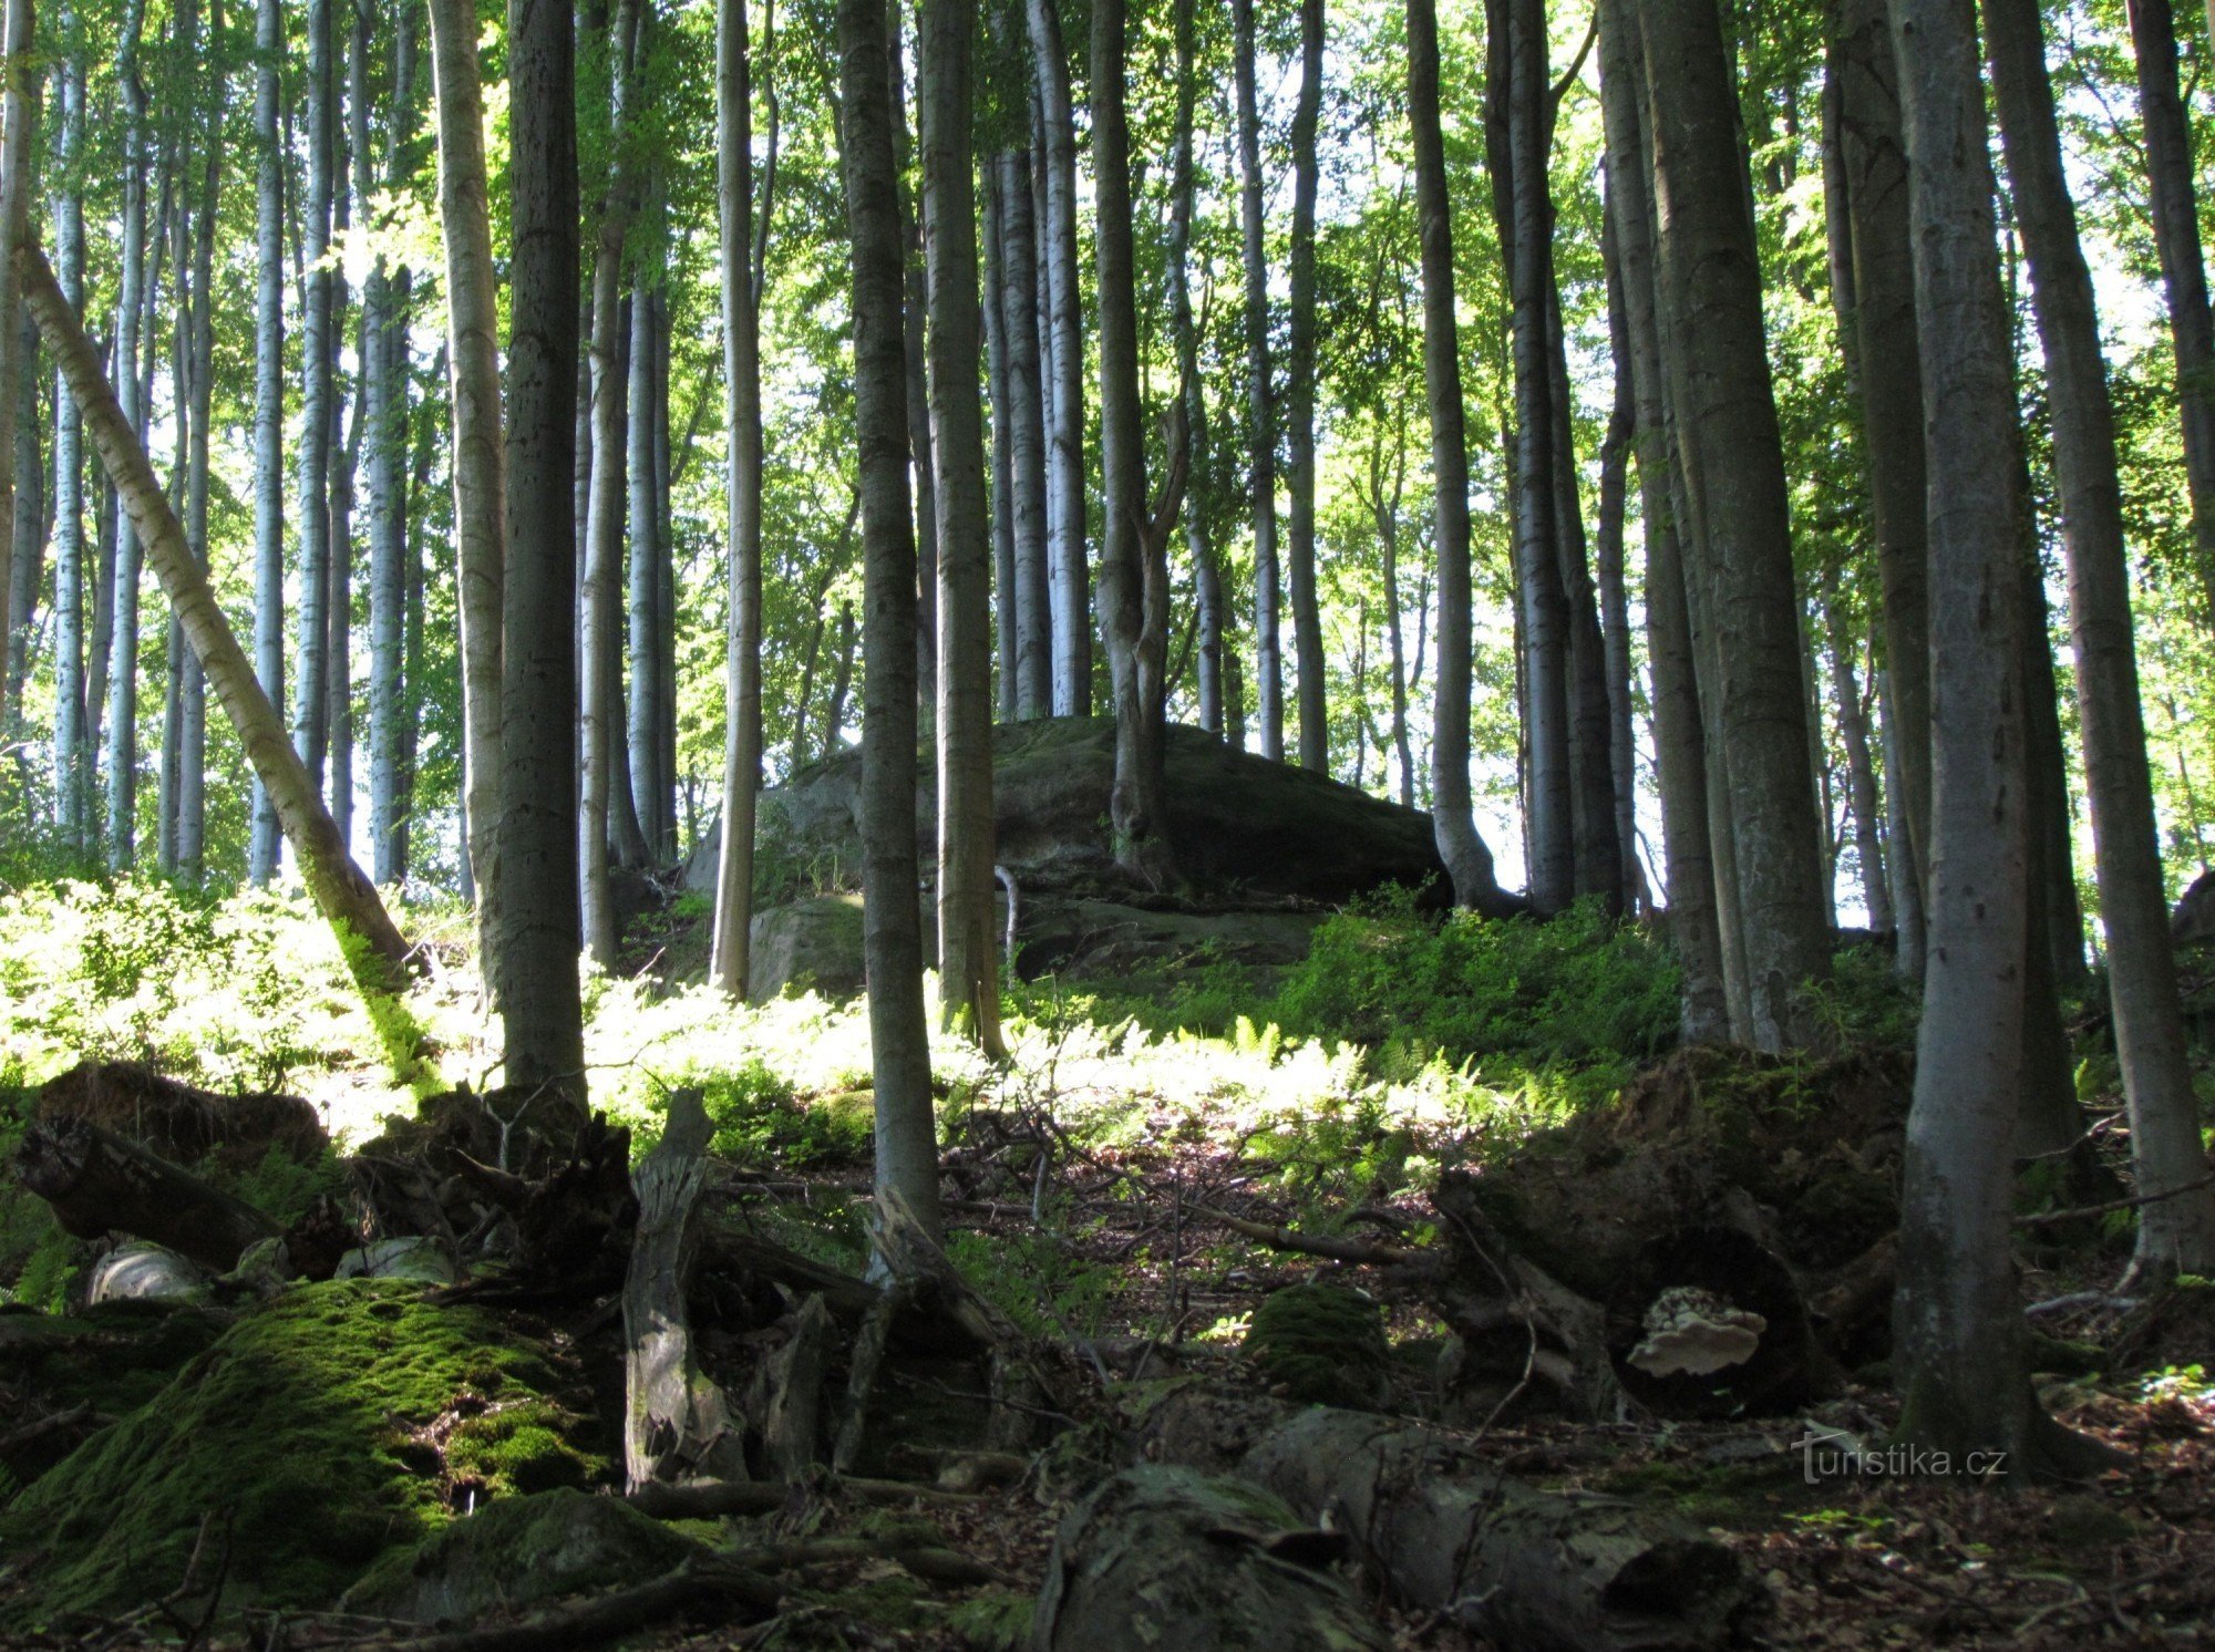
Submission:
<svg viewBox="0 0 2215 1652">
<path fill-rule="evenodd" d="M 111 908 L 113 897 L 100 906 Z M 71 926 L 80 930 L 73 963 L 47 961 L 47 999 L 18 992 L 9 1001 L 0 992 L 11 1005 L 0 1021 L 16 1016 L 0 1025 L 11 1083 L 38 1076 L 40 1063 L 51 1070 L 66 1052 L 104 1047 L 151 1054 L 210 1087 L 268 1078 L 255 1063 L 281 1061 L 275 1076 L 312 1096 L 354 1143 L 374 1129 L 379 1112 L 394 1109 L 334 959 L 321 957 L 312 926 L 299 923 L 292 908 L 284 908 L 292 930 L 272 923 L 277 908 L 257 908 L 264 939 L 255 941 L 241 939 L 244 923 L 193 919 L 188 950 L 204 959 L 195 968 L 206 970 L 206 981 L 175 966 L 157 970 L 162 959 L 182 957 L 177 937 L 162 930 L 171 919 L 159 917 L 159 901 L 131 919 L 128 935 L 166 935 L 144 941 L 135 968 L 115 961 L 122 919 L 95 919 L 91 910 L 86 897 L 22 919 L 60 950 L 71 946 Z M 86 943 L 84 926 L 102 923 L 104 939 Z M 106 974 L 91 979 L 95 968 Z M 1134 1404 L 1176 1380 L 1225 1393 L 1269 1391 L 1245 1338 L 1256 1309 L 1289 1284 L 1331 1280 L 1364 1291 L 1391 1349 L 1389 1400 L 1380 1397 L 1380 1406 L 1442 1415 L 1444 1324 L 1420 1289 L 1389 1269 L 1289 1253 L 1223 1218 L 1424 1245 L 1438 1238 L 1429 1191 L 1442 1165 L 1482 1169 L 1513 1156 L 1531 1132 L 1608 1105 L 1637 1059 L 1613 1067 L 1597 1056 L 1568 1065 L 1451 1063 L 1420 1047 L 1287 1036 L 1260 1014 L 1271 990 L 1227 966 L 1172 970 L 1112 994 L 1043 983 L 1012 999 L 1010 1065 L 990 1070 L 944 1041 L 935 1076 L 944 1096 L 950 1260 L 1023 1333 L 1063 1346 L 1121 1342 L 1139 1349 L 1139 1364 L 1130 1373 L 1079 1366 L 1070 1413 L 1041 1431 L 1012 1484 L 919 1486 L 890 1512 L 835 1484 L 802 1486 L 782 1510 L 724 1521 L 715 1532 L 718 1541 L 870 1537 L 897 1515 L 904 1530 L 930 1528 L 944 1548 L 990 1568 L 990 1581 L 921 1583 L 886 1559 L 835 1559 L 806 1568 L 766 1623 L 684 1628 L 680 1619 L 627 1643 L 1021 1643 L 1057 1526 L 1103 1464 L 1125 1450 L 1119 1442 Z M 1843 1032 L 1898 1036 L 1896 1019 L 1887 1021 L 1892 1008 L 1869 1010 L 1850 997 L 1841 988 Z M 277 1003 L 286 1008 L 277 1012 Z M 441 972 L 416 1008 L 445 1043 L 450 1072 L 485 1059 L 485 1023 L 459 939 L 445 943 Z M 591 1008 L 596 1103 L 631 1125 L 640 1147 L 658 1132 L 669 1087 L 707 1087 L 718 1125 L 718 1220 L 859 1269 L 870 1209 L 859 1005 L 795 997 L 727 1012 L 698 992 L 596 981 Z M 2098 1052 L 2087 1054 L 2084 1094 L 2089 1118 L 2113 1114 Z M 11 1280 L 18 1304 L 66 1295 L 84 1260 L 71 1245 L 40 1227 L 20 1198 L 0 1205 L 0 1278 Z M 2089 1247 L 2031 1253 L 2027 1298 L 2098 1295 L 2120 1273 L 2126 1249 L 2124 1225 L 2111 1222 Z M 569 1320 L 571 1329 L 598 1322 L 605 1331 L 607 1304 L 580 1304 Z M 2102 1371 L 2098 1349 L 2118 1322 L 2104 1302 L 2038 1320 L 2044 1335 L 2084 1344 L 2082 1375 L 2040 1380 L 2047 1406 L 2129 1464 L 2082 1486 L 1896 1477 L 1878 1473 L 1892 1466 L 1881 1455 L 1843 1473 L 1838 1435 L 1876 1450 L 1889 1433 L 1894 1402 L 1881 1369 L 1783 1415 L 1624 1424 L 1517 1415 L 1453 1428 L 1446 1413 L 1440 1426 L 1526 1481 L 1666 1508 L 1725 1543 L 1763 1583 L 1743 1625 L 1750 1645 L 2202 1645 L 2215 1634 L 2215 1313 L 2186 1315 L 2180 1335 Z M 1823 1446 L 1807 1444 L 1810 1428 L 1823 1431 Z M 890 1457 L 897 1464 L 897 1448 Z M 0 1486 L 0 1504 L 4 1493 Z M 0 1555 L 0 1623 L 24 1623 L 9 1597 L 33 1586 L 35 1577 L 9 1570 Z M 1400 1645 L 1488 1645 L 1435 1614 L 1400 1612 L 1389 1601 L 1373 1610 Z M 190 1636 L 157 1610 L 0 1632 L 0 1643 L 24 1648 L 179 1639 Z M 272 1619 L 248 1619 L 224 1639 L 290 1648 L 405 1643 L 374 1623 L 317 1612 L 286 1614 L 281 1634 Z"/>
</svg>

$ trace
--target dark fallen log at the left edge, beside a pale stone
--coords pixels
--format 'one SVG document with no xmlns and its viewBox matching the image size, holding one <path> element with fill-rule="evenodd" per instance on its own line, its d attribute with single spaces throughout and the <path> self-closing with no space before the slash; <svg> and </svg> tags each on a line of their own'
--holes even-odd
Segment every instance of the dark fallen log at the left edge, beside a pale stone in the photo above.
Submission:
<svg viewBox="0 0 2215 1652">
<path fill-rule="evenodd" d="M 75 1238 L 122 1231 L 228 1273 L 277 1222 L 246 1200 L 84 1118 L 40 1118 L 16 1149 L 16 1176 Z"/>
</svg>

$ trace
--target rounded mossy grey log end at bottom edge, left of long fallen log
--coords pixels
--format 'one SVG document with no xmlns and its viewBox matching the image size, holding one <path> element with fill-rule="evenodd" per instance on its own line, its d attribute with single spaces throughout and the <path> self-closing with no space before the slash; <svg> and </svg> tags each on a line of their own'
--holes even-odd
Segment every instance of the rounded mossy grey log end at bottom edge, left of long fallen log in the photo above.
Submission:
<svg viewBox="0 0 2215 1652">
<path fill-rule="evenodd" d="M 1391 1636 L 1329 1570 L 1340 1550 L 1247 1481 L 1130 1468 L 1061 1521 L 1030 1645 L 1382 1652 Z"/>
</svg>

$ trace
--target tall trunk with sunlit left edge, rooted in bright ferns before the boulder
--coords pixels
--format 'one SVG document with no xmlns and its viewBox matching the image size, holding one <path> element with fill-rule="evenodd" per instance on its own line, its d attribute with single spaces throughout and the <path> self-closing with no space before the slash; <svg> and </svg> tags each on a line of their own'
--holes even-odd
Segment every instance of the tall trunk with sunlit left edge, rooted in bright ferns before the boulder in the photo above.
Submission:
<svg viewBox="0 0 2215 1652">
<path fill-rule="evenodd" d="M 992 943 L 992 569 L 983 410 L 977 396 L 983 317 L 970 148 L 975 35 L 975 7 L 921 9 L 917 131 L 930 314 L 930 454 L 937 465 L 939 516 L 939 1021 L 966 1030 L 986 1054 L 1001 1056 L 999 950 Z M 1094 133 L 1096 111 L 1094 95 Z M 1108 195 L 1101 199 L 1105 213 Z M 1105 576 L 1101 589 L 1105 596 Z"/>
</svg>

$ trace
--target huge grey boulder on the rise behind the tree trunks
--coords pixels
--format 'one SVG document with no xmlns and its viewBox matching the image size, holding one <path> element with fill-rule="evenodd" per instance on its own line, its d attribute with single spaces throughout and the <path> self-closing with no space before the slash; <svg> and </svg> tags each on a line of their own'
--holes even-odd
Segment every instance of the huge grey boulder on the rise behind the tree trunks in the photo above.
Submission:
<svg viewBox="0 0 2215 1652">
<path fill-rule="evenodd" d="M 1183 875 L 1216 904 L 1300 899 L 1336 906 L 1380 884 L 1435 879 L 1444 890 L 1431 817 L 1369 797 L 1325 775 L 1234 751 L 1198 729 L 1172 726 L 1170 839 Z M 992 731 L 999 864 L 1023 895 L 1116 895 L 1130 888 L 1108 842 L 1114 724 L 1052 717 Z M 928 866 L 937 830 L 930 764 L 921 764 L 915 842 Z M 797 771 L 762 795 L 764 881 L 786 890 L 853 886 L 862 875 L 855 804 L 862 755 Z M 718 830 L 684 868 L 684 884 L 715 884 Z"/>
</svg>

